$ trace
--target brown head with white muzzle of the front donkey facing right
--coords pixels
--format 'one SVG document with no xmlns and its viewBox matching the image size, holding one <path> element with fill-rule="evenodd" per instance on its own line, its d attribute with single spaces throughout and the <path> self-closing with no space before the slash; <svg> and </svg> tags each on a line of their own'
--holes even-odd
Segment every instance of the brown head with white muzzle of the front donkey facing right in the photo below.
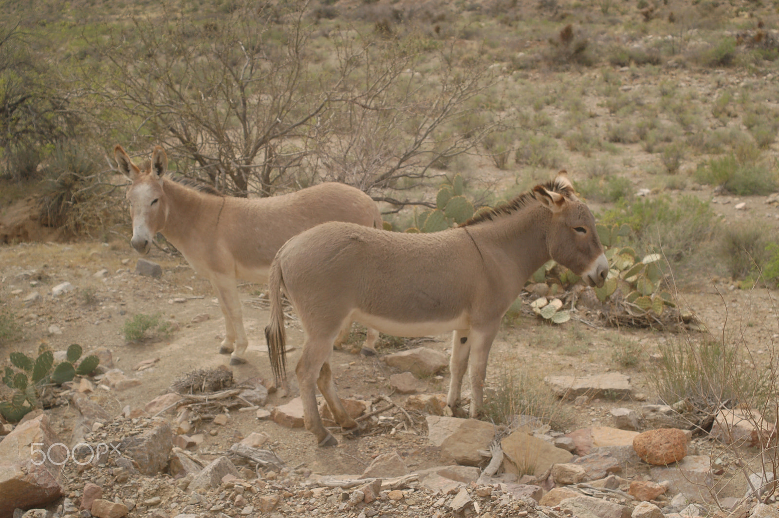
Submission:
<svg viewBox="0 0 779 518">
<path fill-rule="evenodd" d="M 573 195 L 566 171 L 560 171 L 551 185 L 534 187 L 533 194 L 552 211 L 546 234 L 552 259 L 573 270 L 590 286 L 603 286 L 608 275 L 608 259 L 595 231 L 595 218 Z"/>
</svg>

